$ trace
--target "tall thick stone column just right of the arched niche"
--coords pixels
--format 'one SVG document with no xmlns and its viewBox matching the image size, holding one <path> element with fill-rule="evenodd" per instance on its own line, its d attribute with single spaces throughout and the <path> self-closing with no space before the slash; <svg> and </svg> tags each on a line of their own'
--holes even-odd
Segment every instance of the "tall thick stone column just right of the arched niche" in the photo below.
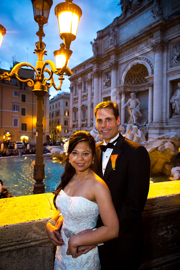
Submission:
<svg viewBox="0 0 180 270">
<path fill-rule="evenodd" d="M 154 91 L 153 91 L 153 123 L 162 122 L 163 105 L 163 41 L 152 45 L 154 51 Z"/>
</svg>

